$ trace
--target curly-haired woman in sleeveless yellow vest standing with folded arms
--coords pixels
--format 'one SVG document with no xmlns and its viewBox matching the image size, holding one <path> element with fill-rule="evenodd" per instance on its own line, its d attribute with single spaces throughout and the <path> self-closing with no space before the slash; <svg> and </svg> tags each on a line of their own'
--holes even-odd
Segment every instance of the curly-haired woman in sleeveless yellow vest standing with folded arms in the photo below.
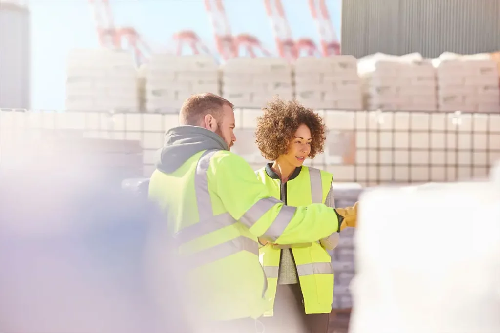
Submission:
<svg viewBox="0 0 500 333">
<path fill-rule="evenodd" d="M 256 144 L 262 156 L 274 162 L 256 171 L 259 180 L 285 205 L 324 203 L 334 207 L 332 174 L 302 166 L 306 158 L 323 151 L 326 129 L 322 118 L 295 101 L 279 99 L 263 111 L 257 118 Z M 355 211 L 355 207 L 349 209 Z M 345 219 L 341 229 L 354 224 Z M 333 271 L 327 250 L 338 243 L 338 233 L 317 243 L 259 242 L 268 282 L 266 298 L 273 305 L 262 319 L 266 331 L 326 333 L 333 298 Z"/>
</svg>

